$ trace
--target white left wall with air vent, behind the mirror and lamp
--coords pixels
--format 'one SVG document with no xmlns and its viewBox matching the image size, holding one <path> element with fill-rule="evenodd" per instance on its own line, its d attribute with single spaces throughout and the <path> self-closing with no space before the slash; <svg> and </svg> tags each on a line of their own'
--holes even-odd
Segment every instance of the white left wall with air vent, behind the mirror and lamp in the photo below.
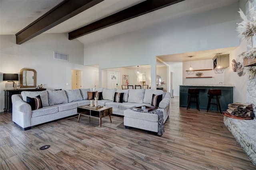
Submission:
<svg viewBox="0 0 256 170">
<path fill-rule="evenodd" d="M 54 59 L 54 51 L 69 55 L 69 61 Z M 2 73 L 20 73 L 24 67 L 35 69 L 36 84 L 46 89 L 71 89 L 71 70 L 82 70 L 82 87 L 93 87 L 93 72 L 98 68 L 83 65 L 84 45 L 68 40 L 66 34 L 41 34 L 22 45 L 14 35 L 0 36 L 0 111 L 4 109 L 5 81 Z M 66 85 L 68 83 L 68 85 Z"/>
</svg>

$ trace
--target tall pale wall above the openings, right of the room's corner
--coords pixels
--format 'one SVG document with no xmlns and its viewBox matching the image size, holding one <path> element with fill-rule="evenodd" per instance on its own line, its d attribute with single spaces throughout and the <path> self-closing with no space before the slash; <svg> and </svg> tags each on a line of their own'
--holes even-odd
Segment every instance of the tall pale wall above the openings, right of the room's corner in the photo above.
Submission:
<svg viewBox="0 0 256 170">
<path fill-rule="evenodd" d="M 84 63 L 100 69 L 150 64 L 155 88 L 157 55 L 238 46 L 237 11 L 235 3 L 85 45 Z"/>
</svg>

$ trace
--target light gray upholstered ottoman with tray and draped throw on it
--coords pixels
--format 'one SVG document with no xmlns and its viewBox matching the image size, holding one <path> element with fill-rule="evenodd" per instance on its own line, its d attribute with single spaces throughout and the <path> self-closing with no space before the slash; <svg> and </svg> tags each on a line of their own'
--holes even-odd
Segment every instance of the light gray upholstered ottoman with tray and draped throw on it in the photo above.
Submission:
<svg viewBox="0 0 256 170">
<path fill-rule="evenodd" d="M 164 109 L 157 110 L 163 111 Z M 158 115 L 126 109 L 124 111 L 124 126 L 158 132 Z"/>
</svg>

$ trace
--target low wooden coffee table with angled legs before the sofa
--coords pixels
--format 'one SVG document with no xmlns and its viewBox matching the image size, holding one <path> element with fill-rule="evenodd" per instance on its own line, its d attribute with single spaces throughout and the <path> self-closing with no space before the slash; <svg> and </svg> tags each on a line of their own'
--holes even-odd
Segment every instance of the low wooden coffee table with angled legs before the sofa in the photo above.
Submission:
<svg viewBox="0 0 256 170">
<path fill-rule="evenodd" d="M 112 107 L 104 106 L 100 109 L 96 109 L 94 107 L 90 107 L 90 105 L 84 105 L 84 106 L 77 107 L 77 113 L 79 114 L 77 121 L 79 121 L 81 115 L 85 115 L 89 117 L 97 117 L 100 119 L 100 127 L 101 127 L 101 118 L 109 116 L 110 123 L 112 123 L 111 117 L 110 117 L 110 115 L 112 114 Z"/>
</svg>

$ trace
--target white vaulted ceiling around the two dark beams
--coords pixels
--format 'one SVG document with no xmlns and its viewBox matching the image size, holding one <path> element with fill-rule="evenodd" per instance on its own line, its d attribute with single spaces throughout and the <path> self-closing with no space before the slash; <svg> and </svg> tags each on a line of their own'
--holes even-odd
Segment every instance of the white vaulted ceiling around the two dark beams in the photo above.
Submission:
<svg viewBox="0 0 256 170">
<path fill-rule="evenodd" d="M 77 0 L 0 0 L 0 35 L 17 34 L 36 19 L 45 15 L 45 13 L 56 5 L 72 1 L 75 2 Z M 102 24 L 102 22 L 94 24 L 94 26 L 90 28 L 92 30 L 85 32 L 85 34 L 84 30 L 82 33 L 75 31 L 83 35 L 77 38 L 80 42 L 89 44 L 126 32 L 143 29 L 166 20 L 228 6 L 238 1 L 239 0 L 84 0 L 83 3 L 86 2 L 87 4 L 84 3 L 85 6 L 82 9 L 78 8 L 72 12 L 72 10 L 70 10 L 71 7 L 75 7 L 70 3 L 70 8 L 63 8 L 67 13 L 66 16 L 51 16 L 53 18 L 52 20 L 56 17 L 58 19 L 59 17 L 58 21 L 52 25 L 50 23 L 50 26 L 48 25 L 45 28 L 40 28 L 40 31 L 34 30 L 33 34 L 35 36 L 41 33 L 68 34 L 78 28 L 86 27 L 88 24 L 92 25 L 92 23 L 98 20 L 104 21 L 106 20 L 104 18 L 110 18 L 108 22 L 104 21 L 105 25 L 98 26 L 98 24 Z M 161 5 L 160 7 L 154 7 L 155 10 L 152 10 L 153 7 L 152 9 L 146 9 L 148 13 L 140 11 L 142 5 L 137 9 L 141 15 L 135 13 L 136 8 L 134 7 L 136 5 L 138 6 L 140 3 L 150 4 L 152 2 L 154 2 L 155 5 L 158 4 L 155 2 L 161 2 Z M 148 4 L 146 6 L 149 6 Z M 127 8 L 132 10 L 122 12 L 122 10 Z M 115 20 L 111 18 L 113 14 L 116 16 Z M 126 16 L 129 20 L 118 18 L 119 16 Z M 99 29 L 100 27 L 102 27 L 102 29 Z M 28 33 L 24 35 L 29 37 L 27 34 Z M 76 37 L 76 35 L 73 36 L 73 38 Z M 28 40 L 29 39 L 30 38 L 28 38 Z"/>
</svg>

